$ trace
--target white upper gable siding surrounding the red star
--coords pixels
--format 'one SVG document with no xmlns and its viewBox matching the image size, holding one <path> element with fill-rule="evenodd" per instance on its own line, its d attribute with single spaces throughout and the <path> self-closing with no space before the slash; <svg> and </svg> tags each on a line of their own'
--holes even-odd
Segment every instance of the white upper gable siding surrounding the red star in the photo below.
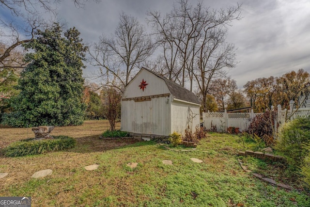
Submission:
<svg viewBox="0 0 310 207">
<path fill-rule="evenodd" d="M 144 91 L 140 89 L 140 82 L 146 81 L 148 84 Z M 165 81 L 159 79 L 154 74 L 148 72 L 147 70 L 141 70 L 137 76 L 129 82 L 127 85 L 123 98 L 132 98 L 132 97 L 140 97 L 140 96 L 152 96 L 159 94 L 168 94 L 170 93 L 168 86 Z"/>
</svg>

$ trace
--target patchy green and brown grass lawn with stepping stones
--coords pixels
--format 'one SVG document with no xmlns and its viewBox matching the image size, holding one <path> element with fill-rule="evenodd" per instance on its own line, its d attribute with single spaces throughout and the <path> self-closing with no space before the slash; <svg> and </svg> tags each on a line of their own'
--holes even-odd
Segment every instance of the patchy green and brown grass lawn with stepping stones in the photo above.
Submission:
<svg viewBox="0 0 310 207">
<path fill-rule="evenodd" d="M 183 152 L 154 142 L 99 139 L 108 128 L 107 121 L 55 127 L 51 135 L 74 137 L 77 146 L 44 155 L 0 157 L 0 173 L 9 173 L 0 178 L 0 196 L 31 196 L 32 207 L 310 207 L 307 192 L 286 191 L 242 171 L 238 158 L 253 172 L 299 188 L 284 165 L 237 157 L 239 150 L 255 148 L 238 136 L 209 133 L 197 150 Z M 0 147 L 31 137 L 30 128 L 2 127 Z M 173 165 L 163 164 L 164 159 Z M 139 164 L 131 169 L 128 162 Z M 99 168 L 86 171 L 84 166 L 91 164 Z M 53 170 L 52 175 L 31 178 L 44 169 Z"/>
</svg>

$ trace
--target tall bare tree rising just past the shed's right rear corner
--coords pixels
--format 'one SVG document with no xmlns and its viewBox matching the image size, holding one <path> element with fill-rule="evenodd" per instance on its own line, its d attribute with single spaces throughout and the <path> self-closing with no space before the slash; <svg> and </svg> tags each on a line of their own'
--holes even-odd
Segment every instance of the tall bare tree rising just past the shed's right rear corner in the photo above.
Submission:
<svg viewBox="0 0 310 207">
<path fill-rule="evenodd" d="M 193 68 L 197 85 L 202 94 L 202 108 L 206 102 L 206 95 L 211 89 L 212 80 L 225 77 L 225 68 L 233 68 L 235 62 L 235 48 L 226 42 L 227 27 L 235 19 L 240 19 L 240 5 L 228 9 L 220 9 L 205 13 L 202 22 L 203 35 L 199 42 L 198 66 Z"/>
</svg>

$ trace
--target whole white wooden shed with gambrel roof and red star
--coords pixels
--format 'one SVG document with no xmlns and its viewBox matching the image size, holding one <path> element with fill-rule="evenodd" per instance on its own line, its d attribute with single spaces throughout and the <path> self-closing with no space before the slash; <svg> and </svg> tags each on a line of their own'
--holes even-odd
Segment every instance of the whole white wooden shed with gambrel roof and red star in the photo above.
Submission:
<svg viewBox="0 0 310 207">
<path fill-rule="evenodd" d="M 192 92 L 146 68 L 128 83 L 122 97 L 121 129 L 150 140 L 200 126 L 200 100 Z"/>
</svg>

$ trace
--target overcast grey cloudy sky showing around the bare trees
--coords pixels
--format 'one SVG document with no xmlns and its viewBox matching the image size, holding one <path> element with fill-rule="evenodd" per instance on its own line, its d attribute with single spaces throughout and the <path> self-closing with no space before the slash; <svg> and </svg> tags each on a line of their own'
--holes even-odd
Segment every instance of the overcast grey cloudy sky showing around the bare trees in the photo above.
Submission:
<svg viewBox="0 0 310 207">
<path fill-rule="evenodd" d="M 279 77 L 300 68 L 310 72 L 310 0 L 203 0 L 210 9 L 237 2 L 242 4 L 243 18 L 233 21 L 227 41 L 238 48 L 239 64 L 229 74 L 239 88 L 249 80 Z M 172 5 L 173 0 L 101 0 L 76 8 L 72 0 L 64 0 L 57 7 L 67 27 L 76 27 L 84 42 L 91 44 L 100 35 L 114 32 L 122 12 L 137 17 L 147 27 L 149 9 L 166 14 Z M 84 76 L 92 76 L 94 70 L 88 66 Z"/>
</svg>

